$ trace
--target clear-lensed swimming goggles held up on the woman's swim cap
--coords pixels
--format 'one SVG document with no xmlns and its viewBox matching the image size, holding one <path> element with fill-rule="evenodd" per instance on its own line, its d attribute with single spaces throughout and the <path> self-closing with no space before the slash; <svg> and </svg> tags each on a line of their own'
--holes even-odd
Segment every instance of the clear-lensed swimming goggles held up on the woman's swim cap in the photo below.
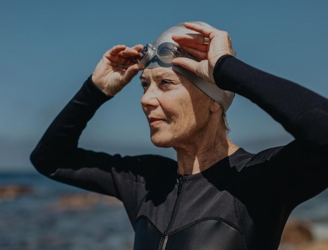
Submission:
<svg viewBox="0 0 328 250">
<path fill-rule="evenodd" d="M 135 59 L 135 62 L 144 67 L 146 67 L 155 57 L 165 64 L 172 63 L 172 60 L 177 57 L 187 57 L 200 61 L 198 58 L 188 54 L 185 50 L 172 42 L 163 42 L 159 46 L 154 46 L 147 43 L 147 45 L 140 52 L 142 56 Z"/>
</svg>

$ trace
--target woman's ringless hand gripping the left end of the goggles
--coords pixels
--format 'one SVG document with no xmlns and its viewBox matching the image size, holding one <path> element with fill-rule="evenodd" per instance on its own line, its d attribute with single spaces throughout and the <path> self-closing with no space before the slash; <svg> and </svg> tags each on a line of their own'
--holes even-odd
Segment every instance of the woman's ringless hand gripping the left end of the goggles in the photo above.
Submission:
<svg viewBox="0 0 328 250">
<path fill-rule="evenodd" d="M 133 60 L 141 55 L 142 44 L 116 45 L 109 49 L 92 74 L 92 81 L 107 95 L 114 96 L 144 67 Z"/>
</svg>

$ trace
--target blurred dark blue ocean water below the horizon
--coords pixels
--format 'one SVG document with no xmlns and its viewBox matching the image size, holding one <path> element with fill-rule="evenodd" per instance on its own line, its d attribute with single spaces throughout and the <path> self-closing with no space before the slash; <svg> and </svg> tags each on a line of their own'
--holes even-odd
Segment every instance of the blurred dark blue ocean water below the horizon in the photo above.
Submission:
<svg viewBox="0 0 328 250">
<path fill-rule="evenodd" d="M 115 198 L 53 181 L 39 173 L 0 173 L 1 250 L 132 250 L 134 231 Z M 1 190 L 1 189 L 0 189 Z M 1 195 L 1 192 L 0 192 Z M 290 218 L 309 221 L 328 238 L 328 190 L 295 208 Z"/>
</svg>

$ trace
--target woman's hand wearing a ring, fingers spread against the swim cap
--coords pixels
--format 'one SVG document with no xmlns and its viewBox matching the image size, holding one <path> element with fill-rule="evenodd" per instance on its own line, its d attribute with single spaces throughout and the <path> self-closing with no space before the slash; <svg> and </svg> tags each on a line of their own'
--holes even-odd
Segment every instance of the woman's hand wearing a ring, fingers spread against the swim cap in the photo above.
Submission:
<svg viewBox="0 0 328 250">
<path fill-rule="evenodd" d="M 192 71 L 207 82 L 215 83 L 213 71 L 216 62 L 222 55 L 233 55 L 229 34 L 211 27 L 205 27 L 195 23 L 184 23 L 184 27 L 200 34 L 173 35 L 172 39 L 177 42 L 189 54 L 202 59 L 197 62 L 190 58 L 178 57 L 172 63 Z M 209 39 L 209 43 L 204 43 L 204 38 Z"/>
</svg>

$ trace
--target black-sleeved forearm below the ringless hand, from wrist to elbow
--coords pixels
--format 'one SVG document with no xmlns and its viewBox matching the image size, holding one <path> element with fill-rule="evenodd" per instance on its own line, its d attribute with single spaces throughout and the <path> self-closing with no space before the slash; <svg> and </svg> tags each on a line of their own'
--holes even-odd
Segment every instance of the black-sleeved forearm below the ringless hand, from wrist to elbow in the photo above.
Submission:
<svg viewBox="0 0 328 250">
<path fill-rule="evenodd" d="M 107 96 L 97 88 L 90 76 L 49 125 L 31 154 L 31 158 L 42 154 L 39 153 L 41 146 L 55 152 L 58 158 L 71 154 L 76 149 L 78 138 L 87 122 L 93 117 L 96 110 L 110 98 L 111 96 Z"/>
</svg>

